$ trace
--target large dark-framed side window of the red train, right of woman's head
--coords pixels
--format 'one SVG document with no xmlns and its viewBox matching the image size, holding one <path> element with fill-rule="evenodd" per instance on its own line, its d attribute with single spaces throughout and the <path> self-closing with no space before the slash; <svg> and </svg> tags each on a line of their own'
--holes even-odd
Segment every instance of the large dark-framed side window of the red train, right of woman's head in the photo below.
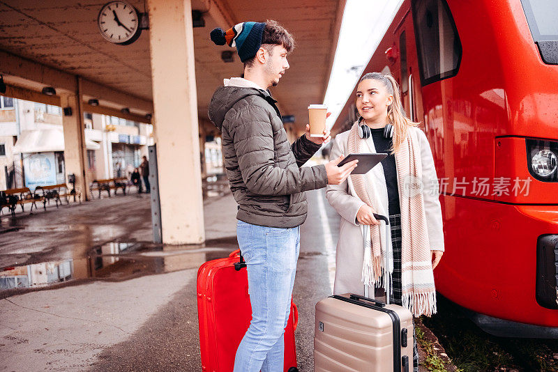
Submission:
<svg viewBox="0 0 558 372">
<path fill-rule="evenodd" d="M 417 0 L 412 4 L 421 84 L 457 75 L 462 47 L 448 4 L 444 0 Z"/>
</svg>

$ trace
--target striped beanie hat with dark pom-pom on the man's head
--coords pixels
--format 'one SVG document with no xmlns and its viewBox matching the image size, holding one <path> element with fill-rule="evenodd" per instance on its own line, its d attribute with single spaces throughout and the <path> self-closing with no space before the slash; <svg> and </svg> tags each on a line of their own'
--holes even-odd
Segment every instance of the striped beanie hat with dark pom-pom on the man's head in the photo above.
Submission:
<svg viewBox="0 0 558 372">
<path fill-rule="evenodd" d="M 229 47 L 236 47 L 240 60 L 244 62 L 255 56 L 262 46 L 265 26 L 264 22 L 242 22 L 227 31 L 213 29 L 210 36 L 216 45 L 227 44 Z"/>
</svg>

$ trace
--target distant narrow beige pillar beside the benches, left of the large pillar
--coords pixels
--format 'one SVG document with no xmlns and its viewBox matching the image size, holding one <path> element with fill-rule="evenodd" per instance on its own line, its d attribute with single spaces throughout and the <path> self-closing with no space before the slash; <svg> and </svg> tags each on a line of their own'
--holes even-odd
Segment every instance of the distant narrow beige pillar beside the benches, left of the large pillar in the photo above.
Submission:
<svg viewBox="0 0 558 372">
<path fill-rule="evenodd" d="M 62 116 L 62 124 L 64 128 L 64 164 L 66 168 L 66 183 L 68 182 L 68 174 L 75 174 L 75 187 L 82 192 L 82 200 L 91 199 L 89 192 L 89 182 L 87 179 L 86 164 L 87 153 L 85 147 L 85 132 L 83 123 L 83 114 L 80 107 L 79 95 L 61 95 L 61 106 L 70 107 L 72 116 Z"/>
</svg>

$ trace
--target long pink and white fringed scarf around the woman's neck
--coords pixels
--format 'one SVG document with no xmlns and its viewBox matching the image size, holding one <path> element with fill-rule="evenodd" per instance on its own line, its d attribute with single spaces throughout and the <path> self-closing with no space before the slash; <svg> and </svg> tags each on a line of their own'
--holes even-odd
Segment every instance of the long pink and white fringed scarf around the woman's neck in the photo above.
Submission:
<svg viewBox="0 0 558 372">
<path fill-rule="evenodd" d="M 361 150 L 363 140 L 359 137 L 358 125 L 358 123 L 354 123 L 349 133 L 348 153 L 359 153 Z M 430 316 L 436 313 L 436 289 L 428 243 L 424 199 L 420 191 L 422 187 L 420 151 L 411 134 L 407 134 L 405 141 L 395 151 L 401 207 L 402 304 L 414 316 Z M 373 188 L 374 185 L 366 183 L 363 174 L 354 174 L 350 177 L 356 196 L 376 212 L 377 209 L 370 201 L 370 195 L 376 195 L 376 192 L 373 189 L 367 191 L 367 187 Z M 365 230 L 368 230 L 368 228 Z M 366 286 L 372 288 L 375 284 L 385 288 L 386 247 L 382 247 L 380 242 L 379 226 L 372 225 L 369 230 L 370 240 L 368 235 L 365 236 L 362 281 Z M 375 257 L 382 257 L 379 272 L 377 272 L 377 268 L 374 268 Z M 391 259 L 391 252 L 389 259 Z M 391 265 L 391 268 L 393 268 L 393 265 Z M 391 279 L 391 272 L 389 274 Z"/>
</svg>

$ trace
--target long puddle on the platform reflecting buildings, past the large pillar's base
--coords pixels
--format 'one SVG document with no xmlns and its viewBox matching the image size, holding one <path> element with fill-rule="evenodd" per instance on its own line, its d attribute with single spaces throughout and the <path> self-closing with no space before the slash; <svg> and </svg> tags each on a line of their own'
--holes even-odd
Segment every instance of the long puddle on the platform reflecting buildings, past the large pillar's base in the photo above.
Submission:
<svg viewBox="0 0 558 372">
<path fill-rule="evenodd" d="M 199 268 L 206 261 L 227 257 L 234 249 L 230 244 L 166 247 L 149 242 L 110 242 L 94 247 L 83 258 L 0 268 L 0 298 L 80 281 L 122 281 Z"/>
</svg>

